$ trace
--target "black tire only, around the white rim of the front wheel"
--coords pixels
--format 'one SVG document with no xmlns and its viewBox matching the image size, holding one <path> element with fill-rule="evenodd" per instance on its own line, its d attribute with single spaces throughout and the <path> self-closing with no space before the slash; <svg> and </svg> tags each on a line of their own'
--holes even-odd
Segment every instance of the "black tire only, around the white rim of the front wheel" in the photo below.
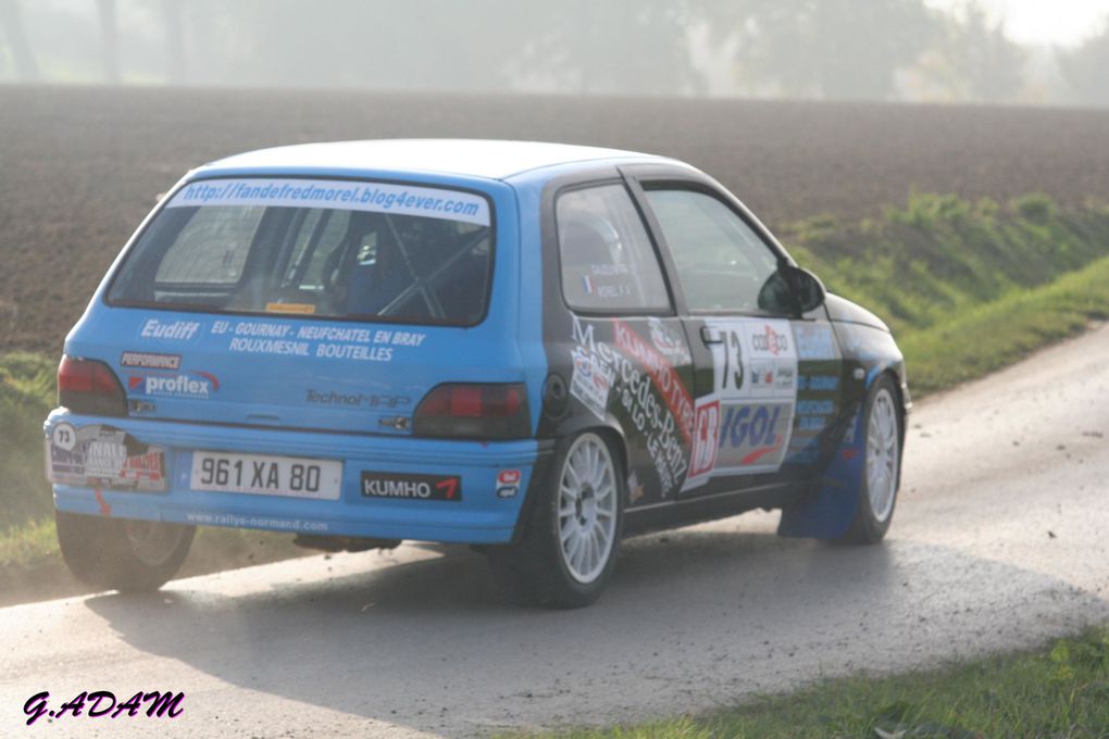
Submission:
<svg viewBox="0 0 1109 739">
<path fill-rule="evenodd" d="M 872 428 L 872 421 L 875 420 L 876 413 L 888 414 L 887 418 L 892 422 L 892 431 L 887 429 L 887 432 L 893 434 L 892 447 L 888 447 L 893 450 L 892 469 L 887 468 L 886 473 L 892 486 L 892 490 L 888 491 L 888 500 L 875 491 L 876 485 L 872 487 L 875 482 L 881 484 L 883 479 L 872 480 L 874 475 L 871 473 L 871 443 L 872 441 L 885 442 L 884 445 L 886 445 L 891 441 L 884 434 L 882 439 L 875 439 L 872 435 L 873 431 L 876 430 Z M 904 439 L 902 424 L 904 421 L 902 410 L 897 404 L 897 389 L 888 374 L 883 374 L 871 386 L 871 390 L 866 394 L 861 422 L 863 424 L 863 474 L 859 480 L 858 501 L 855 504 L 855 517 L 847 532 L 836 540 L 844 544 L 877 544 L 889 531 L 889 523 L 894 517 L 897 489 L 901 484 L 902 440 Z M 882 434 L 881 430 L 878 430 L 878 434 Z M 872 492 L 876 494 L 872 495 Z M 875 501 L 875 497 L 878 500 Z"/>
</svg>

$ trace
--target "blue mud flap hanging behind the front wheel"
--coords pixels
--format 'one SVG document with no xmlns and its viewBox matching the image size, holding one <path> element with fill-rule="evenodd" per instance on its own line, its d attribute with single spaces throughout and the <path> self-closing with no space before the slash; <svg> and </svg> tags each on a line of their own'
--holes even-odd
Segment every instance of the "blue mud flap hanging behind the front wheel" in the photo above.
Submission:
<svg viewBox="0 0 1109 739">
<path fill-rule="evenodd" d="M 865 473 L 863 410 L 861 406 L 813 492 L 782 510 L 779 536 L 837 538 L 847 533 Z"/>
</svg>

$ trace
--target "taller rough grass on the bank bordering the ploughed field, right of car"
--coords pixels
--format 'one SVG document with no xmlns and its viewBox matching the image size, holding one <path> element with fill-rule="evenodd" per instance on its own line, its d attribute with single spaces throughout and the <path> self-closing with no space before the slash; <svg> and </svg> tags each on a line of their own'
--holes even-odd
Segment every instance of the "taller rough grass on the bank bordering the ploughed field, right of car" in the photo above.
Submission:
<svg viewBox="0 0 1109 739">
<path fill-rule="evenodd" d="M 901 340 L 1109 256 L 1109 208 L 1062 209 L 1045 195 L 1001 206 L 917 194 L 883 220 L 815 218 L 782 236 L 830 290 L 876 312 Z"/>
</svg>

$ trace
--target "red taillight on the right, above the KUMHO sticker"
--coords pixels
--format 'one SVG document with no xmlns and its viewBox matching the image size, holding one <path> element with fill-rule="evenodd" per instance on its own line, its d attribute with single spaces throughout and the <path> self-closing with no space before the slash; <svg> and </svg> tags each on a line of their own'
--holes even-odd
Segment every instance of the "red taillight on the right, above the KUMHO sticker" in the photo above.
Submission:
<svg viewBox="0 0 1109 739">
<path fill-rule="evenodd" d="M 417 437 L 522 439 L 531 433 L 522 384 L 440 384 L 413 417 Z"/>
</svg>

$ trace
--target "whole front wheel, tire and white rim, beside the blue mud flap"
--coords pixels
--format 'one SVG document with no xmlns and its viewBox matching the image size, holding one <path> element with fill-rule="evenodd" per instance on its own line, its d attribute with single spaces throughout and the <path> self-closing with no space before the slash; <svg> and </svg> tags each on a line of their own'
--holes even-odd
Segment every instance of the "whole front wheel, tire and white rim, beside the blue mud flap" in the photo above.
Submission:
<svg viewBox="0 0 1109 739">
<path fill-rule="evenodd" d="M 843 542 L 874 544 L 889 530 L 901 481 L 901 413 L 888 376 L 879 378 L 866 396 L 863 433 L 866 459 L 855 505 L 855 519 Z"/>
</svg>

